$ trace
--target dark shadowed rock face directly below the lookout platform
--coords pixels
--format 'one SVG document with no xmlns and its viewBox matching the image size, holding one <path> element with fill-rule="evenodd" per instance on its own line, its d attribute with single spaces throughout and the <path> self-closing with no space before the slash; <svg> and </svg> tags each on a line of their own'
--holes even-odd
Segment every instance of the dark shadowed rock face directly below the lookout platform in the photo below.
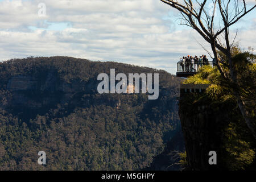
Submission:
<svg viewBox="0 0 256 182">
<path fill-rule="evenodd" d="M 180 96 L 179 115 L 187 152 L 188 169 L 221 170 L 222 138 L 224 125 L 228 120 L 226 108 L 214 107 L 208 102 L 195 102 L 198 93 L 184 93 Z M 209 152 L 216 151 L 217 165 L 210 165 Z"/>
</svg>

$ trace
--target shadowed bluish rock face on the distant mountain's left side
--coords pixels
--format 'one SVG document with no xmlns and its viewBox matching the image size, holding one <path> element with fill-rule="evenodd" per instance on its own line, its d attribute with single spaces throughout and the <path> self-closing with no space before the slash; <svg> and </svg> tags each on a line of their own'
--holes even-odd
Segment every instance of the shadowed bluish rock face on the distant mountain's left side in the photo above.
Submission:
<svg viewBox="0 0 256 182">
<path fill-rule="evenodd" d="M 0 107 L 6 110 L 11 108 L 13 113 L 23 113 L 28 118 L 32 117 L 33 111 L 34 114 L 45 114 L 56 104 L 68 104 L 72 107 L 78 103 L 77 94 L 94 92 L 97 89 L 97 82 L 67 82 L 61 80 L 55 71 L 50 70 L 44 77 L 13 76 L 6 88 L 11 97 Z"/>
</svg>

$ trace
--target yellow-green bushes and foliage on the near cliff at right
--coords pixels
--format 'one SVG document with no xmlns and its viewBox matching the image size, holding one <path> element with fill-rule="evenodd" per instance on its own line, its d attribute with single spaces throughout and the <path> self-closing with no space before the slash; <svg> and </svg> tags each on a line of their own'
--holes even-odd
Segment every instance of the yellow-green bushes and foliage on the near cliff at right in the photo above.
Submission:
<svg viewBox="0 0 256 182">
<path fill-rule="evenodd" d="M 255 118 L 255 80 L 256 80 L 256 65 L 248 61 L 248 57 L 254 56 L 248 52 L 237 53 L 236 60 L 240 61 L 237 65 L 238 85 L 240 85 L 240 92 L 243 100 L 250 106 L 251 118 Z M 232 92 L 232 85 L 226 82 L 218 72 L 217 68 L 204 66 L 200 71 L 192 77 L 184 81 L 185 84 L 210 84 L 204 94 L 199 94 L 189 100 L 194 105 L 208 104 L 213 108 L 220 108 L 226 106 L 226 110 L 230 112 L 229 120 L 224 121 L 225 137 L 222 138 L 222 150 L 225 154 L 225 168 L 231 170 L 239 169 L 255 169 L 255 152 L 256 142 L 253 135 L 250 134 L 245 121 L 241 115 L 236 102 L 236 98 Z M 189 99 L 189 98 L 188 98 Z M 254 125 L 255 128 L 255 125 Z"/>
</svg>

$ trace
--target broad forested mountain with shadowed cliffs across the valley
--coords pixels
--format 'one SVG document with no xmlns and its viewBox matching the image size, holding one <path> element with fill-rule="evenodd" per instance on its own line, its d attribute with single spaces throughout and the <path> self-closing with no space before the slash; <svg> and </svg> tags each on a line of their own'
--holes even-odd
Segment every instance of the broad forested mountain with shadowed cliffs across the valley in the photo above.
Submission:
<svg viewBox="0 0 256 182">
<path fill-rule="evenodd" d="M 111 68 L 126 75 L 159 73 L 158 100 L 146 94 L 99 94 L 97 76 L 109 75 Z M 146 168 L 180 132 L 179 82 L 165 71 L 73 57 L 4 61 L 0 169 Z M 39 151 L 46 152 L 46 165 L 38 164 Z"/>
</svg>

